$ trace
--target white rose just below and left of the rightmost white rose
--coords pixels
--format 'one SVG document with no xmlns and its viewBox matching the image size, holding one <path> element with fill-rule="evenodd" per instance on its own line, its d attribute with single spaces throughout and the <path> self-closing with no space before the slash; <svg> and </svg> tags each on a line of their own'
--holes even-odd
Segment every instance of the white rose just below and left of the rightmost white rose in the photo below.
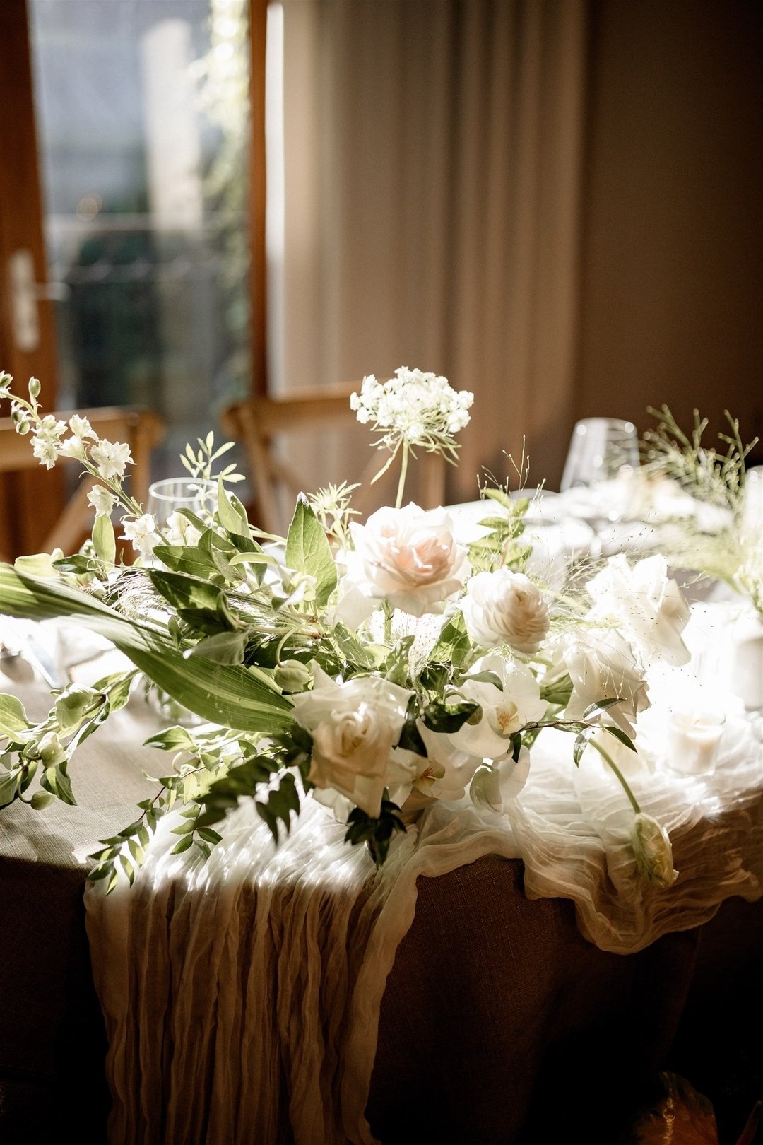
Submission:
<svg viewBox="0 0 763 1145">
<path fill-rule="evenodd" d="M 589 704 L 619 696 L 622 703 L 607 708 L 602 720 L 633 735 L 636 716 L 649 708 L 649 697 L 630 645 L 613 631 L 591 632 L 571 640 L 562 658 L 572 680 L 566 718 L 581 719 Z"/>
</svg>

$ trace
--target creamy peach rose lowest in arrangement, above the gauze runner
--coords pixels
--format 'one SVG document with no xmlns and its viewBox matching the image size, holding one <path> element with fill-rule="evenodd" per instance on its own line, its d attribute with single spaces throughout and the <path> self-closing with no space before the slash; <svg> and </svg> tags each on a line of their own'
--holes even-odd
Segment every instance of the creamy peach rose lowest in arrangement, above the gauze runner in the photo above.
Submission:
<svg viewBox="0 0 763 1145">
<path fill-rule="evenodd" d="M 379 815 L 410 696 L 377 677 L 336 682 L 316 665 L 312 690 L 292 697 L 297 724 L 312 736 L 310 781 Z"/>
</svg>

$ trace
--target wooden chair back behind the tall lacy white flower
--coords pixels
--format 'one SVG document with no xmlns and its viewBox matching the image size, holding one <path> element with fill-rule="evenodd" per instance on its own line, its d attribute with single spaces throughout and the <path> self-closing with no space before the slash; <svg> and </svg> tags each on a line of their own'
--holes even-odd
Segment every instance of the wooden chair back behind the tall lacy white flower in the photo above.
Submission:
<svg viewBox="0 0 763 1145">
<path fill-rule="evenodd" d="M 357 428 L 355 411 L 350 409 L 350 394 L 359 388 L 359 382 L 339 382 L 315 389 L 293 389 L 279 396 L 252 396 L 223 412 L 223 432 L 240 441 L 246 450 L 253 484 L 251 511 L 254 523 L 265 532 L 283 532 L 287 523 L 280 507 L 281 493 L 286 492 L 293 499 L 304 489 L 296 458 L 285 460 L 279 456 L 278 443 L 286 441 L 289 432 Z M 372 504 L 375 487 L 372 490 L 371 480 L 383 460 L 383 455 L 374 450 L 363 471 L 360 489 L 352 497 L 353 506 L 361 514 Z M 419 455 L 415 466 L 418 499 L 423 508 L 443 504 L 445 465 L 442 457 Z M 390 479 L 396 476 L 397 473 L 390 474 Z"/>
</svg>

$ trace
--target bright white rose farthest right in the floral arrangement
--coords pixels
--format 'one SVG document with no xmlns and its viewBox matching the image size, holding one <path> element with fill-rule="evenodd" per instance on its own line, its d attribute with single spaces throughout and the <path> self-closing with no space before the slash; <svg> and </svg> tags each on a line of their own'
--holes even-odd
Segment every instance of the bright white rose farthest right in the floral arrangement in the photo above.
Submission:
<svg viewBox="0 0 763 1145">
<path fill-rule="evenodd" d="M 655 554 L 631 568 L 623 553 L 610 556 L 588 583 L 594 600 L 590 618 L 611 621 L 638 650 L 644 662 L 654 657 L 668 664 L 686 664 L 689 649 L 682 640 L 689 606 L 675 581 L 667 575 L 665 556 Z"/>
</svg>

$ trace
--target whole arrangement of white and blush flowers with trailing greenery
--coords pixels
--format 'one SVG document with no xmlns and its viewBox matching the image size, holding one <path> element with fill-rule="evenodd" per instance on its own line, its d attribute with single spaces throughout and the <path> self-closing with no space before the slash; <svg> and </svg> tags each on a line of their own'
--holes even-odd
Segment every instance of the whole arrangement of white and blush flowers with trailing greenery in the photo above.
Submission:
<svg viewBox="0 0 763 1145">
<path fill-rule="evenodd" d="M 484 487 L 483 535 L 456 536 L 446 508 L 404 504 L 415 449 L 458 458 L 472 395 L 400 369 L 365 378 L 352 408 L 400 458 L 397 504 L 353 518 L 352 487 L 297 498 L 286 537 L 247 520 L 215 473 L 226 447 L 210 435 L 185 467 L 216 483 L 216 505 L 160 527 L 126 493 L 127 445 L 98 440 L 84 418 L 42 416 L 40 386 L 11 394 L 19 433 L 46 467 L 74 457 L 97 479 L 93 535 L 80 552 L 19 558 L 0 568 L 3 613 L 64 617 L 108 638 L 130 662 L 93 686 L 53 693 L 45 720 L 0 697 L 0 806 L 73 804 L 77 747 L 124 706 L 143 678 L 196 713 L 148 744 L 172 757 L 137 816 L 102 840 L 90 879 L 132 881 L 152 830 L 182 808 L 176 852 L 209 854 L 239 800 L 255 802 L 278 842 L 305 798 L 328 804 L 383 863 L 396 832 L 435 800 L 500 815 L 525 783 L 546 729 L 571 734 L 571 765 L 597 753 L 633 807 L 637 870 L 667 886 L 670 840 L 642 813 L 625 777 L 635 721 L 649 705 L 646 670 L 685 663 L 688 606 L 659 554 L 610 558 L 551 586 L 530 564 L 528 499 Z M 136 559 L 117 559 L 112 516 Z"/>
</svg>

